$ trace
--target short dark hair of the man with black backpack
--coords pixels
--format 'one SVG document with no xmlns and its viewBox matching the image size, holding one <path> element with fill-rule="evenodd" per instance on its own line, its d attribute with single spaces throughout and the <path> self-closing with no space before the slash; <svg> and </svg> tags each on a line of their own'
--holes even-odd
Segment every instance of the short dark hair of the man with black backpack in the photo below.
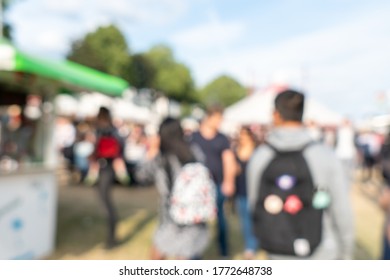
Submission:
<svg viewBox="0 0 390 280">
<path fill-rule="evenodd" d="M 285 121 L 302 122 L 305 96 L 295 90 L 285 90 L 275 98 L 275 110 Z"/>
</svg>

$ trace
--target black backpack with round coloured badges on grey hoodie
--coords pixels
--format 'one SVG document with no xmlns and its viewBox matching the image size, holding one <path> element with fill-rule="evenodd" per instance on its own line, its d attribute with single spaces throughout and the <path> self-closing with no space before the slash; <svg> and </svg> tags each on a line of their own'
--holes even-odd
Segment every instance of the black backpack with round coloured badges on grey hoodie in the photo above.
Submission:
<svg viewBox="0 0 390 280">
<path fill-rule="evenodd" d="M 303 157 L 311 144 L 297 151 L 279 151 L 267 144 L 275 157 L 261 178 L 253 227 L 261 247 L 269 253 L 307 257 L 321 242 L 323 209 L 316 208 L 325 208 L 326 203 L 313 207 L 318 189 Z M 326 195 L 321 197 L 326 200 Z"/>
</svg>

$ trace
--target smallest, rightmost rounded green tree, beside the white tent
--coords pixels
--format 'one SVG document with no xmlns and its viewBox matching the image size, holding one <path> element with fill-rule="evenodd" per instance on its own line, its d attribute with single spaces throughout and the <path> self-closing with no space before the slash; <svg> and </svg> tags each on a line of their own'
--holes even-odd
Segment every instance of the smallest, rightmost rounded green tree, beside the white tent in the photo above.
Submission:
<svg viewBox="0 0 390 280">
<path fill-rule="evenodd" d="M 203 105 L 218 103 L 230 106 L 245 97 L 247 90 L 235 79 L 222 75 L 207 84 L 199 93 Z"/>
</svg>

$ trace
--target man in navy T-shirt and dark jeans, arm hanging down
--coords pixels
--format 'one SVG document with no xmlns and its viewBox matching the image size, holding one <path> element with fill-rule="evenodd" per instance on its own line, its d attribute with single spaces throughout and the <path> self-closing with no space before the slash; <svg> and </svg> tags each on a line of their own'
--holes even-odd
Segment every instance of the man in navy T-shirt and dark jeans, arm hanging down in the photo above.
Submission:
<svg viewBox="0 0 390 280">
<path fill-rule="evenodd" d="M 220 133 L 222 108 L 210 107 L 202 120 L 199 131 L 190 136 L 191 144 L 202 154 L 202 161 L 209 168 L 217 186 L 218 243 L 222 257 L 229 255 L 227 223 L 223 211 L 225 199 L 234 194 L 236 163 L 228 138 Z"/>
</svg>

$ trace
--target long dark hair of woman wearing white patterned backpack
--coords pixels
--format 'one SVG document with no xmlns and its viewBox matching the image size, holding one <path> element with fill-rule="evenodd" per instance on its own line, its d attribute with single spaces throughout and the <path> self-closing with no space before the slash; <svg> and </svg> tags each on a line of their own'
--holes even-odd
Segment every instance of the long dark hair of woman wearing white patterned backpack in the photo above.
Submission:
<svg viewBox="0 0 390 280">
<path fill-rule="evenodd" d="M 190 144 L 184 138 L 184 131 L 177 119 L 168 117 L 160 125 L 160 152 L 163 157 L 176 156 L 181 164 L 195 161 Z"/>
</svg>

